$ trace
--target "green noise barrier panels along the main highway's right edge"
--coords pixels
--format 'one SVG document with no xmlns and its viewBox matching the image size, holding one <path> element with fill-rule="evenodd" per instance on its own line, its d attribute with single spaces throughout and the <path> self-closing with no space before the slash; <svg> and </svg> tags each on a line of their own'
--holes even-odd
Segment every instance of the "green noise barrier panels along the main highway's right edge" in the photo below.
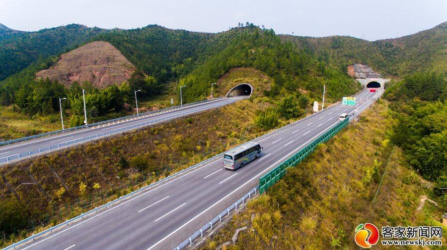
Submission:
<svg viewBox="0 0 447 250">
<path fill-rule="evenodd" d="M 270 170 L 270 172 L 259 178 L 259 194 L 263 194 L 265 191 L 267 191 L 268 188 L 279 181 L 286 174 L 286 169 L 288 167 L 297 165 L 307 155 L 313 152 L 318 144 L 327 142 L 340 130 L 346 127 L 348 123 L 349 119 L 344 119 L 343 121 L 335 125 L 335 127 L 329 129 L 326 133 L 313 140 L 304 149 L 299 150 L 296 154 L 279 164 L 279 166 L 275 167 L 274 169 Z"/>
</svg>

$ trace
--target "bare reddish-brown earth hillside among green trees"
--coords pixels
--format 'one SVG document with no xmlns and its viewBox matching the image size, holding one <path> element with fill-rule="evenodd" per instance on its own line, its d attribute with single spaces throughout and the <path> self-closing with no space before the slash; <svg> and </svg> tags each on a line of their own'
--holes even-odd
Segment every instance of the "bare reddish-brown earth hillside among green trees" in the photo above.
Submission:
<svg viewBox="0 0 447 250">
<path fill-rule="evenodd" d="M 88 43 L 61 55 L 57 64 L 36 74 L 69 87 L 74 81 L 91 82 L 98 88 L 120 84 L 132 75 L 135 66 L 111 44 L 103 41 Z"/>
</svg>

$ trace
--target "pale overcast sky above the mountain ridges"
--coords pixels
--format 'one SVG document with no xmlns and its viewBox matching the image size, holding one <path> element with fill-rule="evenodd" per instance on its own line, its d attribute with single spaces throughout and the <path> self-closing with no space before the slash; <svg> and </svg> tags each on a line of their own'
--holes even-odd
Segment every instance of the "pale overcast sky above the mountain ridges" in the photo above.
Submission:
<svg viewBox="0 0 447 250">
<path fill-rule="evenodd" d="M 247 21 L 277 34 L 374 41 L 447 21 L 447 0 L 0 0 L 0 23 L 23 31 L 78 23 L 222 32 Z"/>
</svg>

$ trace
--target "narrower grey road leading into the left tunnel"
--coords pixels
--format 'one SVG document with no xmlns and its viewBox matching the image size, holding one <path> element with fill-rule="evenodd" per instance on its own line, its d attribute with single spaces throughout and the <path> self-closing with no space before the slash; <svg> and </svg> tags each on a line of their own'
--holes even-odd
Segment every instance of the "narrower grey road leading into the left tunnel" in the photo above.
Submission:
<svg viewBox="0 0 447 250">
<path fill-rule="evenodd" d="M 7 157 L 13 157 L 18 154 L 27 153 L 30 151 L 40 150 L 44 148 L 48 148 L 51 146 L 55 146 L 58 144 L 65 144 L 67 142 L 71 142 L 77 139 L 86 138 L 89 136 L 94 137 L 97 134 L 105 133 L 107 134 L 109 131 L 117 130 L 120 128 L 125 128 L 128 126 L 140 124 L 143 122 L 149 122 L 154 121 L 156 119 L 161 119 L 164 117 L 168 117 L 171 115 L 178 115 L 182 112 L 190 112 L 190 113 L 196 113 L 203 110 L 203 108 L 213 108 L 216 105 L 224 105 L 225 103 L 230 103 L 236 100 L 239 100 L 240 98 L 234 97 L 234 98 L 224 98 L 224 99 L 217 99 L 217 100 L 211 100 L 204 103 L 199 103 L 197 105 L 192 106 L 185 106 L 183 108 L 179 108 L 176 110 L 170 110 L 163 113 L 155 113 L 148 116 L 140 116 L 136 117 L 134 119 L 129 120 L 122 120 L 120 122 L 114 122 L 114 123 L 107 123 L 103 125 L 99 125 L 96 127 L 90 127 L 90 128 L 83 128 L 74 130 L 71 132 L 65 132 L 61 134 L 55 134 L 51 136 L 46 136 L 42 138 L 36 138 L 28 141 L 22 141 L 13 143 L 10 145 L 4 145 L 0 147 L 0 160 L 5 159 Z M 180 115 L 182 116 L 182 115 Z M 82 143 L 82 142 L 79 142 Z M 69 145 L 67 147 L 72 147 L 74 145 L 78 145 L 79 143 Z M 36 156 L 39 154 L 36 154 Z M 21 158 L 22 159 L 22 158 Z M 4 160 L 3 160 L 4 161 Z"/>
</svg>

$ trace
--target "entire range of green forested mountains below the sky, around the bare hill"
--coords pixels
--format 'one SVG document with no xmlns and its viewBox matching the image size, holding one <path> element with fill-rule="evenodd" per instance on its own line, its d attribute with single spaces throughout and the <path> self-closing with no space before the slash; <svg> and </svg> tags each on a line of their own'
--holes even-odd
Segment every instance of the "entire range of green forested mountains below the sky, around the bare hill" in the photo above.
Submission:
<svg viewBox="0 0 447 250">
<path fill-rule="evenodd" d="M 0 82 L 0 104 L 15 103 L 30 115 L 54 112 L 50 107 L 57 104 L 57 98 L 53 95 L 61 91 L 68 95 L 65 92 L 70 91 L 45 81 L 36 82 L 36 73 L 53 66 L 63 52 L 93 41 L 109 42 L 135 65 L 129 86 L 123 86 L 121 92 L 107 90 L 124 99 L 134 88 L 143 89 L 143 100 L 154 97 L 174 81 L 187 86 L 183 92 L 185 101 L 203 100 L 209 96 L 211 82 L 218 81 L 231 68 L 249 67 L 274 80 L 266 96 L 276 98 L 299 90 L 314 99 L 326 84 L 331 101 L 358 88 L 346 74 L 346 66 L 353 63 L 368 64 L 385 76 L 401 77 L 414 70 L 446 72 L 446 37 L 446 23 L 414 35 L 375 42 L 343 36 L 278 36 L 271 29 L 248 22 L 221 33 L 172 30 L 158 25 L 104 30 L 71 24 L 0 40 L 0 79 L 6 77 Z M 77 97 L 78 86 L 71 90 L 77 93 L 73 96 Z M 92 104 L 92 114 L 105 114 L 108 108 L 118 107 L 113 101 L 109 104 L 101 108 Z"/>
</svg>

